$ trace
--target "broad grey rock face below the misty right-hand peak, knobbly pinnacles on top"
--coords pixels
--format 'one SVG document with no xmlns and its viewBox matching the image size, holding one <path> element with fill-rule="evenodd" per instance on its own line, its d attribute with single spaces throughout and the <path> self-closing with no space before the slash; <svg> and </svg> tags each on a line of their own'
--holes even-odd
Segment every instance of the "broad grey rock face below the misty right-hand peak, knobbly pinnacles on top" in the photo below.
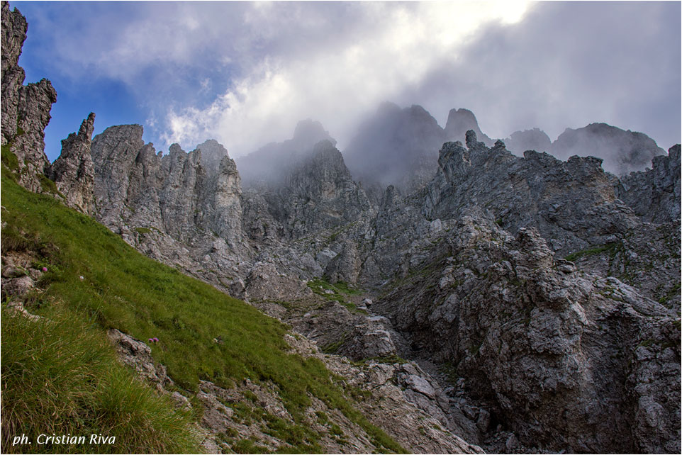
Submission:
<svg viewBox="0 0 682 455">
<path fill-rule="evenodd" d="M 501 141 L 491 149 L 481 147 L 475 135 L 468 135 L 468 142 L 469 148 L 460 142 L 443 145 L 423 205 L 427 218 L 453 218 L 462 208 L 479 206 L 511 232 L 535 226 L 559 254 L 602 245 L 637 223 L 616 198 L 598 158 L 561 162 L 533 151 L 520 158 Z"/>
</svg>

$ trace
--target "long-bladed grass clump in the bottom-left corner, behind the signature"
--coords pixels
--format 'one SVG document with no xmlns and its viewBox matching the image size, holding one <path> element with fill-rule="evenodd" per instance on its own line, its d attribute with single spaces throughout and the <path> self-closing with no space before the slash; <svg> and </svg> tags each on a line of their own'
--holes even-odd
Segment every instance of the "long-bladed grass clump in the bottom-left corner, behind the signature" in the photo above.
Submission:
<svg viewBox="0 0 682 455">
<path fill-rule="evenodd" d="M 2 451 L 140 453 L 199 451 L 191 418 L 133 377 L 104 333 L 67 308 L 33 322 L 2 310 Z M 16 434 L 27 444 L 12 445 Z M 36 444 L 38 434 L 84 435 L 85 444 Z M 116 437 L 90 445 L 90 434 Z"/>
</svg>

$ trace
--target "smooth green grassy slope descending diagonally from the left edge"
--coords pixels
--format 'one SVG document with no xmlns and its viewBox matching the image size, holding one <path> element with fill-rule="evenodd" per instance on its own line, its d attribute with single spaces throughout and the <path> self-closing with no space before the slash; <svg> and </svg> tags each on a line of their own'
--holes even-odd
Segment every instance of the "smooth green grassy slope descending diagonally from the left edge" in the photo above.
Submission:
<svg viewBox="0 0 682 455">
<path fill-rule="evenodd" d="M 54 199 L 25 191 L 2 172 L 2 248 L 38 251 L 46 266 L 30 310 L 41 314 L 61 302 L 91 320 L 104 337 L 116 327 L 138 339 L 157 337 L 152 355 L 179 386 L 195 391 L 200 379 L 230 387 L 272 381 L 294 419 L 303 422 L 308 393 L 363 427 L 374 444 L 403 451 L 369 424 L 348 401 L 324 365 L 290 354 L 286 327 L 206 283 L 142 256 L 104 226 Z M 81 280 L 79 277 L 83 276 Z M 3 333 L 4 336 L 4 333 Z M 222 337 L 223 344 L 213 339 Z M 6 347 L 3 346 L 3 354 Z M 3 361 L 5 378 L 6 361 Z M 3 398 L 3 403 L 5 398 Z M 308 437 L 299 451 L 317 451 Z"/>
</svg>

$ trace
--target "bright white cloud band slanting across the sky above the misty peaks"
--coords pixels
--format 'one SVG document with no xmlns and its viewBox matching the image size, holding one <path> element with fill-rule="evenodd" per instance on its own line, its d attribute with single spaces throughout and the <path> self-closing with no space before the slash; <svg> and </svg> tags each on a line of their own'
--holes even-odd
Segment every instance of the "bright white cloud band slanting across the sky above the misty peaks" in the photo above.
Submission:
<svg viewBox="0 0 682 455">
<path fill-rule="evenodd" d="M 420 84 L 443 60 L 456 58 L 480 26 L 518 21 L 527 4 L 367 3 L 354 9 L 351 14 L 362 28 L 330 30 L 337 33 L 330 43 L 325 30 L 340 18 L 300 5 L 282 18 L 277 5 L 256 4 L 245 14 L 246 23 L 257 30 L 252 47 L 267 50 L 284 43 L 297 49 L 301 35 L 308 35 L 308 47 L 267 55 L 206 108 L 169 111 L 163 140 L 191 147 L 215 137 L 238 156 L 289 137 L 296 122 L 307 117 L 345 138 L 362 113 L 405 86 Z M 296 37 L 287 34 L 291 18 L 296 18 Z"/>
</svg>

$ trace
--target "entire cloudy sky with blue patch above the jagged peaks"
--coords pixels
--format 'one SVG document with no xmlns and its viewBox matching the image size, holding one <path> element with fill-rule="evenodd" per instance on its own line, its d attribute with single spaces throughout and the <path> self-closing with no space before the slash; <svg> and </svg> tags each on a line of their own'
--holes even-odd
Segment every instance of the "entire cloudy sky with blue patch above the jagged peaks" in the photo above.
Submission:
<svg viewBox="0 0 682 455">
<path fill-rule="evenodd" d="M 57 103 L 47 156 L 89 112 L 140 123 L 157 150 L 208 138 L 245 155 L 320 120 L 343 147 L 381 101 L 441 125 L 469 108 L 491 137 L 606 122 L 681 139 L 680 2 L 38 2 L 26 83 Z"/>
</svg>

